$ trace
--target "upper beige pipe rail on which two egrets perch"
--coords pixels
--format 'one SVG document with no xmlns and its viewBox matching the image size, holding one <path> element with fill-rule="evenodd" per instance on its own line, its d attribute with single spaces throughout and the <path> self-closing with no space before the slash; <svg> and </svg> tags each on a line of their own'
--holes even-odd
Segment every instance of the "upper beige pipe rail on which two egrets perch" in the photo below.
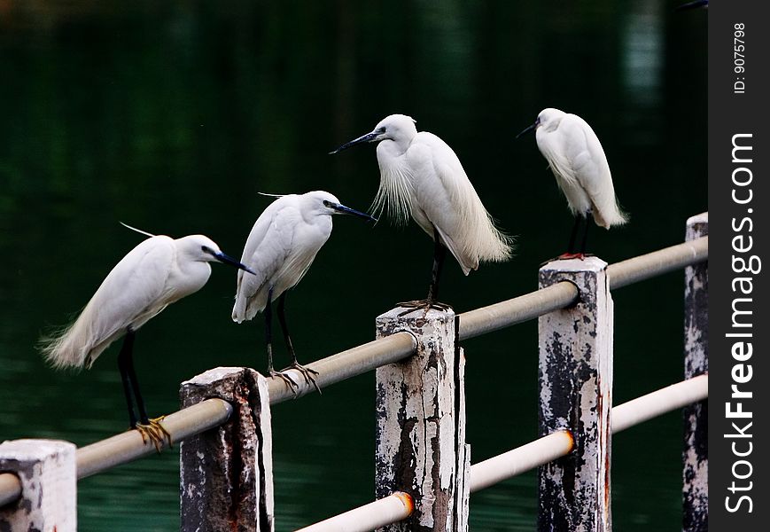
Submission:
<svg viewBox="0 0 770 532">
<path fill-rule="evenodd" d="M 613 289 L 706 260 L 708 260 L 708 237 L 702 237 L 611 264 L 607 267 L 607 276 L 610 288 Z M 460 315 L 460 339 L 473 338 L 562 309 L 571 305 L 577 297 L 577 288 L 572 283 L 562 282 L 494 305 L 464 312 Z M 393 364 L 410 356 L 415 349 L 414 336 L 408 332 L 397 332 L 392 336 L 327 356 L 307 364 L 307 367 L 319 373 L 315 377 L 317 384 L 320 387 L 327 387 L 340 380 L 369 372 L 381 365 Z M 294 380 L 300 383 L 296 396 L 306 395 L 315 389 L 307 386 L 299 373 L 295 375 Z M 271 404 L 282 403 L 295 397 L 281 379 L 270 379 L 268 391 Z M 192 434 L 198 434 L 224 423 L 229 417 L 229 411 L 227 416 L 224 416 L 223 410 L 231 411 L 231 407 L 229 404 L 225 407 L 222 403 L 227 404 L 220 401 L 216 407 L 209 405 L 197 410 L 200 405 L 196 405 L 190 409 L 175 412 L 163 420 L 163 426 L 172 434 L 173 441 L 179 442 Z M 216 419 L 220 421 L 217 423 Z M 154 450 L 152 442 L 142 441 L 141 435 L 136 431 L 128 431 L 101 442 L 92 443 L 77 451 L 78 478 L 104 471 L 114 465 L 128 463 L 152 454 Z M 16 500 L 20 493 L 21 488 L 16 475 L 0 473 L 0 506 Z"/>
</svg>

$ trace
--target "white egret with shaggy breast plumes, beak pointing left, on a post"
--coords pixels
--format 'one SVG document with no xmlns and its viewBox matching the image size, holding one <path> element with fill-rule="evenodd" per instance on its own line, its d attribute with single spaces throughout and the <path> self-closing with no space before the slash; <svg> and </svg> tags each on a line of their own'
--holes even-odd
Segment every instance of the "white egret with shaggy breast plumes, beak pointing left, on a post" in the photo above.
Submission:
<svg viewBox="0 0 770 532">
<path fill-rule="evenodd" d="M 387 207 L 396 223 L 408 216 L 434 241 L 433 269 L 428 297 L 399 303 L 410 309 L 447 309 L 439 303 L 439 276 L 447 249 L 463 273 L 478 269 L 478 262 L 508 260 L 512 239 L 494 227 L 463 165 L 447 143 L 427 131 L 417 132 L 416 121 L 392 114 L 362 137 L 339 146 L 376 142 L 380 184 L 376 212 Z"/>
</svg>

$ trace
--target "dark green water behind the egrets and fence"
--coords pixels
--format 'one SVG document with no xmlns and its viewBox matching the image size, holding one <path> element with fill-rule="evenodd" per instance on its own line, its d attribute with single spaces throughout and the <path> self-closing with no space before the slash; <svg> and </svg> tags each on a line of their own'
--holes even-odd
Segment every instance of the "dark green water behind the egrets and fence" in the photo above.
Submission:
<svg viewBox="0 0 770 532">
<path fill-rule="evenodd" d="M 534 138 L 543 107 L 583 116 L 602 139 L 631 223 L 594 231 L 616 262 L 680 241 L 706 209 L 707 12 L 676 2 L 0 2 L 0 439 L 78 445 L 125 429 L 116 347 L 89 372 L 52 372 L 35 351 L 147 231 L 196 232 L 239 256 L 268 205 L 257 192 L 328 190 L 366 208 L 373 146 L 331 157 L 390 113 L 443 137 L 517 257 L 464 278 L 457 311 L 532 291 L 572 218 Z M 130 5 L 130 7 L 127 7 Z M 593 228 L 595 229 L 595 228 Z M 375 317 L 422 297 L 432 244 L 412 223 L 335 219 L 289 295 L 300 361 L 374 337 Z M 263 370 L 262 322 L 229 318 L 235 274 L 146 325 L 136 366 L 151 414 L 217 365 Z M 615 398 L 681 378 L 681 274 L 615 297 Z M 536 435 L 534 322 L 464 342 L 472 461 Z M 277 344 L 277 364 L 284 361 Z M 278 530 L 373 497 L 374 376 L 273 411 Z M 612 443 L 618 530 L 681 529 L 681 420 Z M 178 529 L 176 450 L 79 484 L 81 530 Z M 471 497 L 471 529 L 532 530 L 534 473 Z"/>
</svg>

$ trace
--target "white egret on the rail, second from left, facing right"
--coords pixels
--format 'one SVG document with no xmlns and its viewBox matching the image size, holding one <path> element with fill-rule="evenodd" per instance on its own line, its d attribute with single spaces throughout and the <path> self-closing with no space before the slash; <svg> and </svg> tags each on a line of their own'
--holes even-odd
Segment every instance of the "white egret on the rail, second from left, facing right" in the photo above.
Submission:
<svg viewBox="0 0 770 532">
<path fill-rule="evenodd" d="M 290 368 L 296 369 L 302 373 L 307 384 L 313 384 L 320 392 L 312 376 L 316 372 L 297 362 L 284 314 L 286 290 L 299 283 L 313 263 L 315 254 L 329 239 L 331 215 L 355 215 L 372 222 L 377 220 L 340 205 L 339 200 L 329 192 L 315 191 L 277 198 L 257 218 L 246 239 L 241 262 L 253 270 L 254 275 L 245 276 L 243 272 L 238 272 L 232 318 L 242 323 L 264 310 L 269 374 L 284 379 L 293 392 L 298 385 L 283 372 Z M 286 348 L 292 356 L 292 364 L 281 372 L 273 368 L 271 304 L 276 299 L 278 322 L 284 332 Z"/>
</svg>

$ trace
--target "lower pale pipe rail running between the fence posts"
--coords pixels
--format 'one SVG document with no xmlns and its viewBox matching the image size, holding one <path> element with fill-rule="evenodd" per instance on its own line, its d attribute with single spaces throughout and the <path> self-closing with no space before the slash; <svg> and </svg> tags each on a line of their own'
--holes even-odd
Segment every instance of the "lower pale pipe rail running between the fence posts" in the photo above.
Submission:
<svg viewBox="0 0 770 532">
<path fill-rule="evenodd" d="M 630 426 L 639 425 L 666 412 L 679 410 L 690 403 L 702 401 L 708 395 L 709 376 L 704 374 L 642 395 L 627 403 L 619 404 L 612 409 L 612 434 L 626 430 Z M 525 473 L 540 465 L 548 464 L 556 458 L 564 457 L 572 452 L 573 443 L 574 440 L 570 431 L 557 431 L 496 457 L 471 465 L 471 493 Z M 382 520 L 385 512 L 398 507 L 398 497 L 401 497 L 401 492 L 340 513 L 314 525 L 300 528 L 297 532 L 331 532 L 332 530 L 366 532 L 405 520 L 411 512 L 394 512 L 393 520 L 387 522 Z M 355 515 L 357 521 L 350 521 L 349 516 L 351 515 Z"/>
</svg>

